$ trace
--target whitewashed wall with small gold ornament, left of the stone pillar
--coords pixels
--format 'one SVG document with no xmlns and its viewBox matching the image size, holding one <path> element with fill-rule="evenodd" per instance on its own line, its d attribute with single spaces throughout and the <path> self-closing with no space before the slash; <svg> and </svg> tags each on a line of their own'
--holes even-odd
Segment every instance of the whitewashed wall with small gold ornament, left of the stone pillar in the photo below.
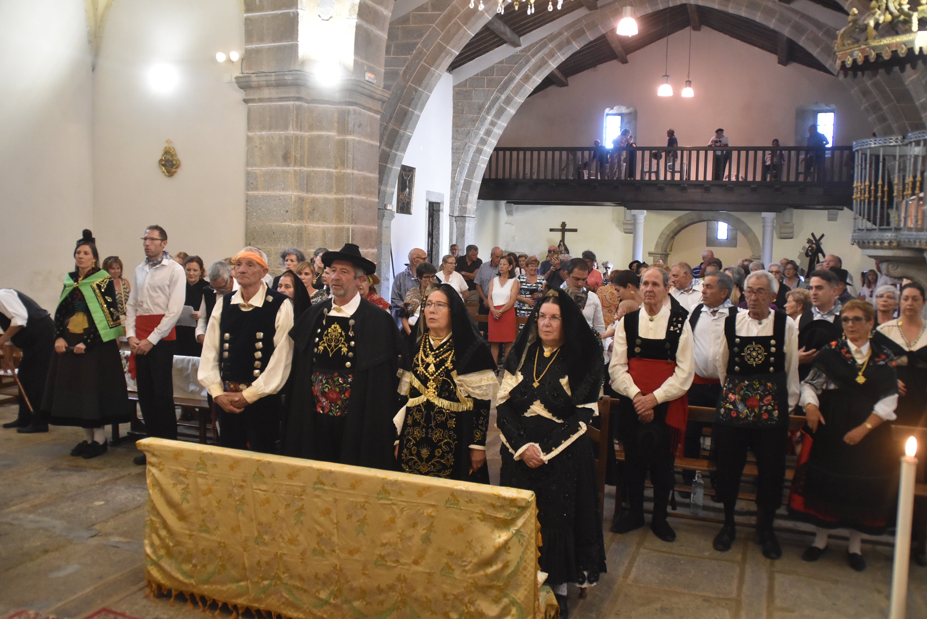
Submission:
<svg viewBox="0 0 927 619">
<path fill-rule="evenodd" d="M 244 245 L 246 106 L 238 66 L 215 59 L 243 47 L 235 0 L 113 3 L 94 77 L 94 223 L 100 251 L 130 273 L 152 223 L 169 251 L 207 266 Z M 171 92 L 148 82 L 157 63 L 177 71 Z M 158 167 L 167 139 L 181 160 L 171 178 Z"/>
</svg>

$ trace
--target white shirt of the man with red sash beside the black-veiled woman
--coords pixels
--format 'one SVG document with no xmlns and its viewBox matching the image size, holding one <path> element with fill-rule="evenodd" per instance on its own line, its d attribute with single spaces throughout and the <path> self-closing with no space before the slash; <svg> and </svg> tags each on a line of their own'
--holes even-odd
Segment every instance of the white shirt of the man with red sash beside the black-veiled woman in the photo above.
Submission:
<svg viewBox="0 0 927 619">
<path fill-rule="evenodd" d="M 653 320 L 651 320 L 653 318 Z M 634 398 L 641 389 L 634 384 L 628 372 L 628 338 L 625 335 L 624 321 L 628 316 L 622 317 L 615 328 L 615 347 L 612 350 L 612 362 L 608 366 L 608 373 L 612 377 L 612 388 L 626 398 Z M 647 314 L 647 309 L 641 305 L 638 312 L 638 335 L 647 339 L 666 339 L 669 325 L 669 299 L 656 316 Z M 695 361 L 692 358 L 692 327 L 689 321 L 683 322 L 682 334 L 679 335 L 679 347 L 676 350 L 676 370 L 654 391 L 654 398 L 662 404 L 673 399 L 681 398 L 692 386 L 692 377 L 695 375 Z"/>
</svg>

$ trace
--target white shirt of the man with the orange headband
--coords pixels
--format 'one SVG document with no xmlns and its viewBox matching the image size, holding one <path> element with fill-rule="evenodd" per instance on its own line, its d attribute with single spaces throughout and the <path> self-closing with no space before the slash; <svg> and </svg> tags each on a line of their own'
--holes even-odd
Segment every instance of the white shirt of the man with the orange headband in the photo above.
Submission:
<svg viewBox="0 0 927 619">
<path fill-rule="evenodd" d="M 260 290 L 246 301 L 239 288 L 232 296 L 232 303 L 238 305 L 242 311 L 250 311 L 264 305 L 267 297 L 267 284 L 261 282 Z M 222 299 L 216 302 L 212 309 L 210 324 L 206 328 L 206 339 L 203 340 L 203 354 L 199 359 L 199 384 L 206 387 L 213 398 L 225 392 L 222 385 L 222 373 L 219 371 L 219 349 L 221 348 L 222 331 Z M 289 376 L 290 364 L 293 361 L 293 340 L 289 332 L 293 328 L 293 303 L 284 301 L 277 309 L 276 319 L 273 321 L 275 329 L 273 334 L 273 355 L 260 376 L 254 379 L 251 385 L 241 392 L 248 400 L 248 404 L 257 402 L 264 396 L 270 396 L 283 388 Z"/>
</svg>

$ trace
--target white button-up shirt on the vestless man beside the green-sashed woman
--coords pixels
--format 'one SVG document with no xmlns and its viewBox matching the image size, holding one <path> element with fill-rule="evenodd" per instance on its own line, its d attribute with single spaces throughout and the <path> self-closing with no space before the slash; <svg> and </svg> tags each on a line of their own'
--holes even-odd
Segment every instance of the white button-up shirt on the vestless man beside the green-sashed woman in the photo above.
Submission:
<svg viewBox="0 0 927 619">
<path fill-rule="evenodd" d="M 186 274 L 184 267 L 171 258 L 157 265 L 145 260 L 135 267 L 135 282 L 129 301 L 125 304 L 125 335 L 135 337 L 135 317 L 164 314 L 158 327 L 147 340 L 158 344 L 171 333 L 186 300 Z"/>
</svg>

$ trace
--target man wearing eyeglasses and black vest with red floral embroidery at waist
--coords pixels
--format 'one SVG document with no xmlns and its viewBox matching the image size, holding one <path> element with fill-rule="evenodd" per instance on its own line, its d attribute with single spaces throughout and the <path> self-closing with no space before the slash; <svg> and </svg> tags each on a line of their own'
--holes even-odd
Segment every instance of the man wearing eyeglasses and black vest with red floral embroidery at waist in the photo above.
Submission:
<svg viewBox="0 0 927 619">
<path fill-rule="evenodd" d="M 789 415 L 798 404 L 798 327 L 785 312 L 769 309 L 779 290 L 771 273 L 753 272 L 743 285 L 747 310 L 730 309 L 724 321 L 725 343 L 717 352 L 722 386 L 711 437 L 724 526 L 714 547 L 730 550 L 737 535 L 734 508 L 749 449 L 758 470 L 756 542 L 764 557 L 779 559 L 782 550 L 772 524 L 782 504 Z"/>
</svg>

